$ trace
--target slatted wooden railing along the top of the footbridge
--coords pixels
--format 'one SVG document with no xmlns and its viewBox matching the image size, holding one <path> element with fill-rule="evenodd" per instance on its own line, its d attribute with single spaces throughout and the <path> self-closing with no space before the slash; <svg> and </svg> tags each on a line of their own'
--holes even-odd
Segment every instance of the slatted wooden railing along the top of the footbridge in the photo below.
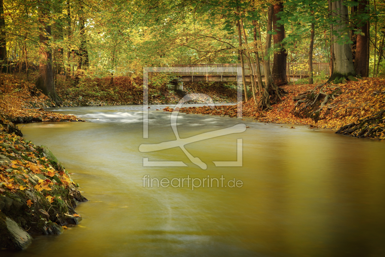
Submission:
<svg viewBox="0 0 385 257">
<path fill-rule="evenodd" d="M 256 69 L 257 64 L 254 64 Z M 174 64 L 172 67 L 180 67 L 181 71 L 176 72 L 179 76 L 236 76 L 237 71 L 241 71 L 241 64 Z M 264 75 L 264 66 L 260 64 L 261 75 Z M 244 64 L 245 75 L 251 74 L 248 64 Z M 273 69 L 273 64 L 270 64 Z M 317 74 L 330 75 L 328 62 L 314 62 L 313 72 Z M 286 67 L 286 76 L 307 76 L 309 66 L 307 63 L 288 63 Z"/>
</svg>

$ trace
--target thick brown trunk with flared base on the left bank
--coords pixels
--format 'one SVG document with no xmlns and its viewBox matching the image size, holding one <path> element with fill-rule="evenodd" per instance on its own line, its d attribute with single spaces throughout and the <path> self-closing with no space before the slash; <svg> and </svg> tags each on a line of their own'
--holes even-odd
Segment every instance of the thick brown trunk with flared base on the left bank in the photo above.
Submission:
<svg viewBox="0 0 385 257">
<path fill-rule="evenodd" d="M 42 7 L 39 7 L 42 8 Z M 40 23 L 40 63 L 39 63 L 39 77 L 36 81 L 37 89 L 40 89 L 43 94 L 49 96 L 57 106 L 62 104 L 60 97 L 56 94 L 54 84 L 54 74 L 52 72 L 52 49 L 49 44 L 51 35 L 51 26 L 46 22 L 49 20 L 47 10 L 40 10 L 39 23 Z"/>
</svg>

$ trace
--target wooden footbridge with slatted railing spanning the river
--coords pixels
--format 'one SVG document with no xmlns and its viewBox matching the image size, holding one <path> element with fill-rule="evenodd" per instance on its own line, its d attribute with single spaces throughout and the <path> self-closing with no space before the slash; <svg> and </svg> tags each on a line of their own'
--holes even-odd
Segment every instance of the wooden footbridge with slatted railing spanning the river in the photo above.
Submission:
<svg viewBox="0 0 385 257">
<path fill-rule="evenodd" d="M 256 70 L 257 64 L 254 64 Z M 237 81 L 237 74 L 241 74 L 241 64 L 174 64 L 172 67 L 180 68 L 180 71 L 174 72 L 179 76 L 182 82 L 197 81 Z M 253 67 L 251 67 L 253 68 Z M 262 80 L 264 81 L 264 67 L 260 64 Z M 270 64 L 270 69 L 273 65 Z M 244 64 L 245 79 L 251 81 L 252 73 L 248 64 Z M 328 62 L 313 63 L 313 72 L 315 75 L 330 75 Z M 286 67 L 286 76 L 288 81 L 296 81 L 298 79 L 309 76 L 309 66 L 307 63 L 288 63 Z M 238 78 L 239 80 L 239 78 Z M 181 85 L 176 89 L 182 89 Z"/>
</svg>

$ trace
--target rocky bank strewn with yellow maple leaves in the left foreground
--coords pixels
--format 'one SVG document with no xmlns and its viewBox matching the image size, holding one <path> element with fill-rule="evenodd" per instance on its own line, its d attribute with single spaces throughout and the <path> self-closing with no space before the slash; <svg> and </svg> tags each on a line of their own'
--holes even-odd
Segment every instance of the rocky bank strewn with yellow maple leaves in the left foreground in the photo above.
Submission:
<svg viewBox="0 0 385 257">
<path fill-rule="evenodd" d="M 31 244 L 30 235 L 60 234 L 79 223 L 74 208 L 87 199 L 48 148 L 0 118 L 0 249 L 20 250 Z"/>
</svg>

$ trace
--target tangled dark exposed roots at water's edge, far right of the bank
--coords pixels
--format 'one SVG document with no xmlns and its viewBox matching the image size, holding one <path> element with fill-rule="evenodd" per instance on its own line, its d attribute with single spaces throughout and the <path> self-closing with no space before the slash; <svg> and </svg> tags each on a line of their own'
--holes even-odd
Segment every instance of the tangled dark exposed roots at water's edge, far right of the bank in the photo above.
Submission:
<svg viewBox="0 0 385 257">
<path fill-rule="evenodd" d="M 384 133 L 385 129 L 385 110 L 376 113 L 372 117 L 359 119 L 354 123 L 342 126 L 337 134 L 352 135 L 358 138 L 372 138 L 378 133 Z"/>
</svg>

